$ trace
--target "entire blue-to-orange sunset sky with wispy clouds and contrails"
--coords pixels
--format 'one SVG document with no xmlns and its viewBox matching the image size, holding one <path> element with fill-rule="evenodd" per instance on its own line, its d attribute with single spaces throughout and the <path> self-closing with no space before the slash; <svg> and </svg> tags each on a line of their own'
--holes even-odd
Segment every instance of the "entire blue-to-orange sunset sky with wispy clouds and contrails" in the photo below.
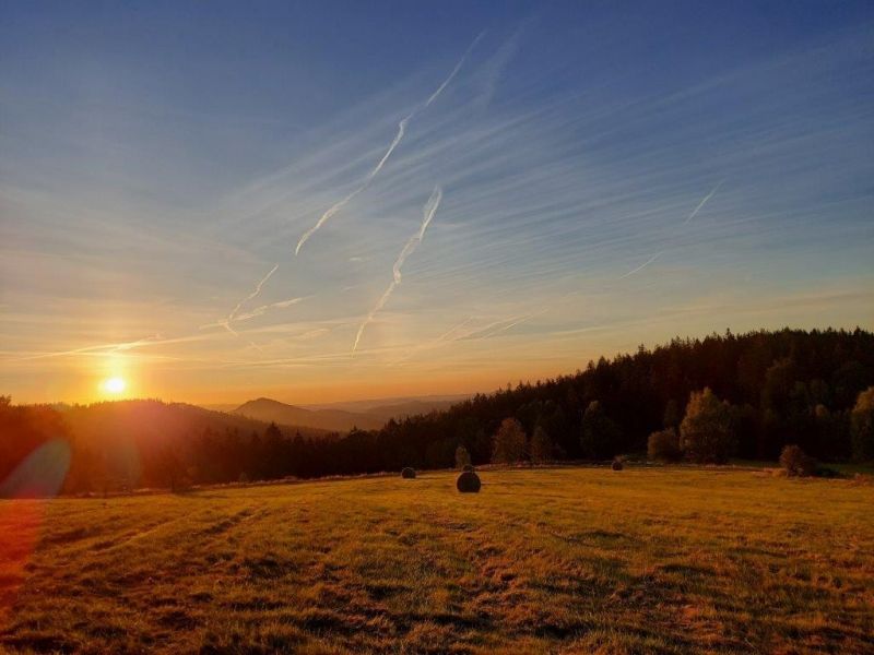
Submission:
<svg viewBox="0 0 874 655">
<path fill-rule="evenodd" d="M 874 329 L 871 2 L 0 3 L 15 402 L 469 393 L 787 325 Z"/>
</svg>

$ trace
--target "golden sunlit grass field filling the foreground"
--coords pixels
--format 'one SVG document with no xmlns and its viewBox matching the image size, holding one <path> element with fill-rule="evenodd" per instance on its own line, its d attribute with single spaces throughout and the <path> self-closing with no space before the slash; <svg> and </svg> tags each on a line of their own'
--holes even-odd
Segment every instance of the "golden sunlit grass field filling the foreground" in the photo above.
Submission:
<svg viewBox="0 0 874 655">
<path fill-rule="evenodd" d="M 874 486 L 482 478 L 3 501 L 0 650 L 874 652 Z"/>
</svg>

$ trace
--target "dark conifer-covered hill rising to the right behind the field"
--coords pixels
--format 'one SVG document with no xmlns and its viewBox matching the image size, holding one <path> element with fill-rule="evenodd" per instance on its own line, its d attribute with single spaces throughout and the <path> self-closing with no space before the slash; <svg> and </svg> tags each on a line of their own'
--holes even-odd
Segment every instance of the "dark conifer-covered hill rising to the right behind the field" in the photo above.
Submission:
<svg viewBox="0 0 874 655">
<path fill-rule="evenodd" d="M 824 461 L 852 456 L 850 410 L 874 384 L 874 335 L 857 329 L 782 330 L 675 338 L 654 349 L 590 361 L 584 370 L 534 384 L 480 394 L 444 413 L 391 421 L 314 444 L 300 473 L 322 475 L 400 466 L 445 467 L 463 445 L 474 463 L 489 461 L 493 436 L 508 417 L 530 439 L 540 426 L 557 458 L 609 458 L 643 452 L 648 436 L 676 427 L 689 395 L 709 386 L 731 404 L 731 429 L 744 458 L 776 460 L 795 443 Z M 598 403 L 609 439 L 583 434 Z"/>
</svg>

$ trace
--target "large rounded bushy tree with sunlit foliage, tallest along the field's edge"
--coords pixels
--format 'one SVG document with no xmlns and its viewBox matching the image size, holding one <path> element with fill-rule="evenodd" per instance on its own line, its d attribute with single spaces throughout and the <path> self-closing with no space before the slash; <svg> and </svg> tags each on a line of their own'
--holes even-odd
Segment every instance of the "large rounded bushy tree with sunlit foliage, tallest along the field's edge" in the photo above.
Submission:
<svg viewBox="0 0 874 655">
<path fill-rule="evenodd" d="M 680 448 L 698 463 L 721 464 L 734 453 L 731 407 L 705 386 L 692 392 L 686 416 L 680 424 Z"/>
</svg>

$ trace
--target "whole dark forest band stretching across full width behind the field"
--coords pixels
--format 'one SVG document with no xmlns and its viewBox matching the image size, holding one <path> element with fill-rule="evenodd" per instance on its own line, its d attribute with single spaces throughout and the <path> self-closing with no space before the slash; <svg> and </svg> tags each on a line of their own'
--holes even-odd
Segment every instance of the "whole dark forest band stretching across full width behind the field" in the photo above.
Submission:
<svg viewBox="0 0 874 655">
<path fill-rule="evenodd" d="M 155 436 L 133 442 L 117 432 L 98 441 L 71 429 L 51 407 L 4 398 L 0 481 L 50 439 L 69 444 L 64 489 L 71 492 L 445 468 L 454 465 L 459 446 L 482 464 L 495 455 L 495 434 L 508 418 L 519 427 L 519 458 L 535 452 L 543 458 L 546 452 L 553 460 L 609 460 L 646 453 L 650 434 L 677 430 L 689 398 L 705 388 L 724 409 L 725 456 L 772 461 L 783 446 L 796 444 L 824 462 L 867 461 L 874 458 L 865 432 L 871 419 L 853 409 L 872 385 L 872 333 L 787 329 L 641 346 L 590 361 L 574 374 L 508 385 L 448 410 L 343 436 L 302 434 L 275 425 L 249 432 L 208 426 L 184 440 Z"/>
</svg>

